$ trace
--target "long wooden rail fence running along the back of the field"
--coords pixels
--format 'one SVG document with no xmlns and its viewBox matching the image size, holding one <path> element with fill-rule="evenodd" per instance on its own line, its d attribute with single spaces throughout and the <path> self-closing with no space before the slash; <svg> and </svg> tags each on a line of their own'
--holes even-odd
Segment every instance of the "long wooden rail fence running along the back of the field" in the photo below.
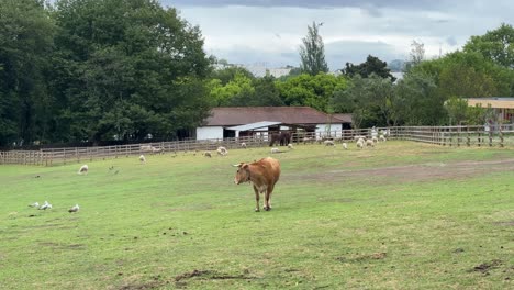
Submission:
<svg viewBox="0 0 514 290">
<path fill-rule="evenodd" d="M 389 140 L 405 140 L 442 146 L 514 147 L 514 125 L 484 126 L 399 126 L 378 127 L 377 135 L 386 134 Z M 372 137 L 371 129 L 329 132 L 294 132 L 292 143 L 312 144 L 324 140 L 354 142 L 356 136 Z M 264 147 L 269 136 L 238 138 L 215 138 L 202 141 L 175 141 L 115 146 L 45 148 L 40 150 L 0 152 L 0 164 L 18 165 L 65 165 L 93 159 L 128 157 L 139 154 L 177 154 L 179 152 L 215 150 L 219 146 L 227 149 L 241 147 Z M 278 146 L 278 145 L 277 145 Z"/>
</svg>

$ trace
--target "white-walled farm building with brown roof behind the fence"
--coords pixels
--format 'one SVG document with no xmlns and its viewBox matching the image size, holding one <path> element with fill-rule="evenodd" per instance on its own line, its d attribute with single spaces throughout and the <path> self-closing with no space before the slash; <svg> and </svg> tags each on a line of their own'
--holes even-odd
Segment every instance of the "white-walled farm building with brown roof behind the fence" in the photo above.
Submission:
<svg viewBox="0 0 514 290">
<path fill-rule="evenodd" d="M 342 120 L 310 107 L 221 107 L 212 109 L 204 125 L 197 127 L 195 138 L 267 135 L 279 130 L 327 132 L 350 126 L 351 116 Z"/>
</svg>

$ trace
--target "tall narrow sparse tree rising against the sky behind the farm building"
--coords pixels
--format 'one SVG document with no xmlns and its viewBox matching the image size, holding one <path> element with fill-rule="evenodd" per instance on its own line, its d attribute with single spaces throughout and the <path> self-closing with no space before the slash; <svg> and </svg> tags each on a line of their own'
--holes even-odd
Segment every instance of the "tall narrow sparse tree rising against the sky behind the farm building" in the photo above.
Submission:
<svg viewBox="0 0 514 290">
<path fill-rule="evenodd" d="M 325 60 L 325 46 L 320 35 L 322 25 L 323 22 L 313 22 L 312 26 L 308 25 L 308 34 L 302 38 L 303 45 L 300 46 L 300 67 L 303 72 L 311 76 L 328 71 L 328 65 Z"/>
</svg>

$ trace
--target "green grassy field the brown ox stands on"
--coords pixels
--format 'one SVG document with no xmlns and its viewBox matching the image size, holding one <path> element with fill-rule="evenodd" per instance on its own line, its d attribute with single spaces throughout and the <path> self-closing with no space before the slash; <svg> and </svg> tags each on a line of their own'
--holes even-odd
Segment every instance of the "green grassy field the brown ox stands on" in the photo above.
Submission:
<svg viewBox="0 0 514 290">
<path fill-rule="evenodd" d="M 512 149 L 299 145 L 256 213 L 268 150 L 0 166 L 0 288 L 514 288 Z"/>
</svg>

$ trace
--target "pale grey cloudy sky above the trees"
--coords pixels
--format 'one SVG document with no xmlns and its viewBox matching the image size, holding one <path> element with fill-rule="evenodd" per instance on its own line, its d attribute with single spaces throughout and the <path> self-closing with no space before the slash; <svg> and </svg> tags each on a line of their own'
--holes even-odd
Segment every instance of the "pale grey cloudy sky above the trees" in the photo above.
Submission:
<svg viewBox="0 0 514 290">
<path fill-rule="evenodd" d="M 471 35 L 514 24 L 511 0 L 160 0 L 199 25 L 205 51 L 230 63 L 300 64 L 308 25 L 321 23 L 331 70 L 368 54 L 406 59 L 415 40 L 426 56 L 459 49 Z"/>
</svg>

